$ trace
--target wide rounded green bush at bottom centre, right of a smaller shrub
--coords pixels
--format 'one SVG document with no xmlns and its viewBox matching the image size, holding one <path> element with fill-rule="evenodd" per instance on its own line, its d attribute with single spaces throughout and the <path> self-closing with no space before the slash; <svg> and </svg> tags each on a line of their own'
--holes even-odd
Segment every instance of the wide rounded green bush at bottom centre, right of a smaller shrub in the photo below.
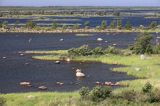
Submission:
<svg viewBox="0 0 160 106">
<path fill-rule="evenodd" d="M 94 87 L 90 92 L 90 97 L 93 101 L 99 102 L 111 95 L 111 88 L 106 86 L 97 86 Z"/>
</svg>

